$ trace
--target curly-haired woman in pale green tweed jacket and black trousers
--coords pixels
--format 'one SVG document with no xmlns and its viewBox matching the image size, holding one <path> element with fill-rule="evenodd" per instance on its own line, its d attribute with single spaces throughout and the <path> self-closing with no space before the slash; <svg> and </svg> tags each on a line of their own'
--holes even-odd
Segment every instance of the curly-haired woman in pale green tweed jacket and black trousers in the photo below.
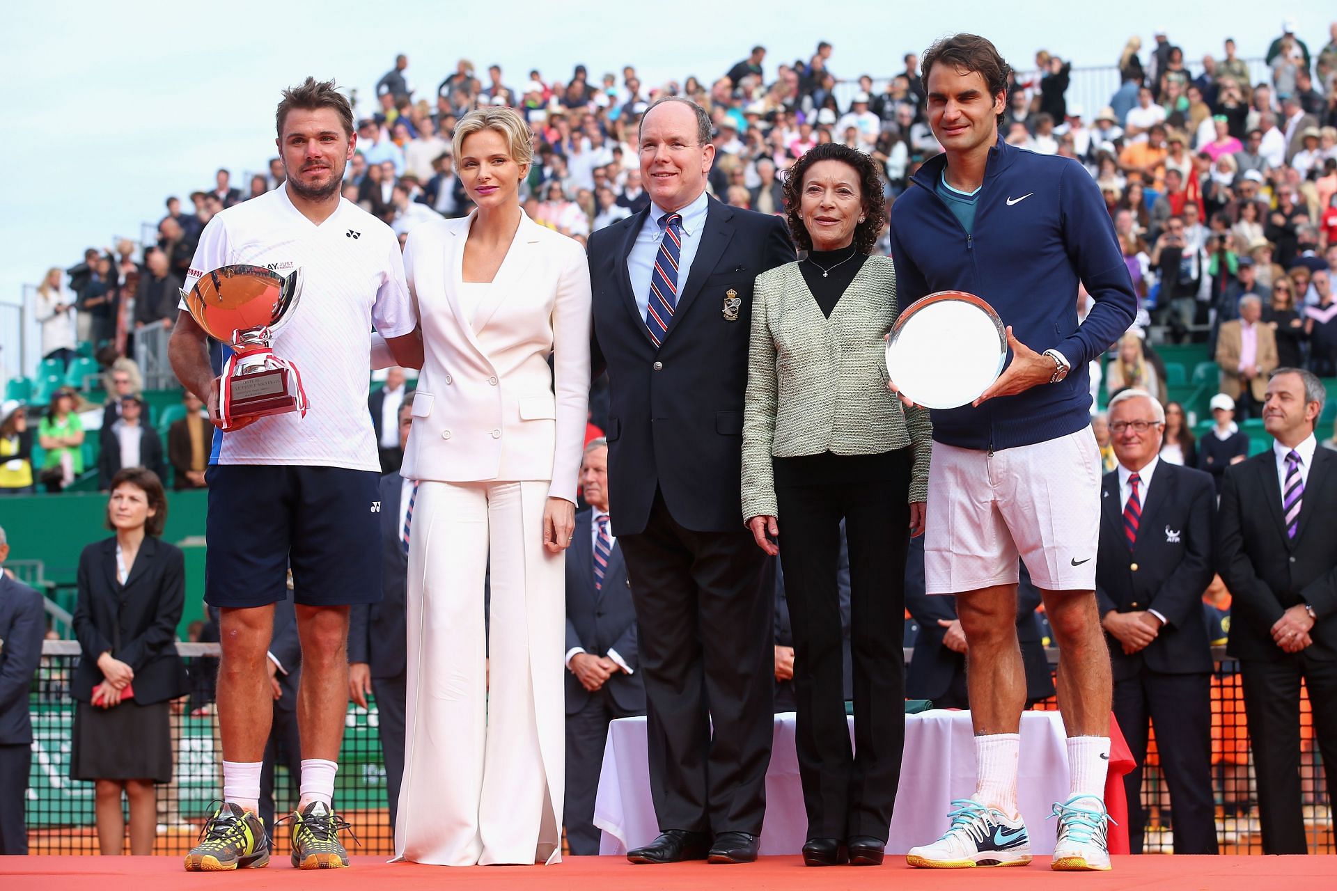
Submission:
<svg viewBox="0 0 1337 891">
<path fill-rule="evenodd" d="M 877 164 L 845 146 L 817 146 L 789 171 L 785 204 L 808 255 L 757 277 L 742 508 L 757 545 L 778 553 L 785 572 L 808 810 L 804 862 L 874 866 L 905 740 L 905 553 L 924 529 L 931 427 L 925 409 L 902 409 L 886 389 L 882 335 L 898 307 L 892 259 L 869 255 L 886 220 Z M 841 520 L 853 753 L 836 593 Z"/>
</svg>

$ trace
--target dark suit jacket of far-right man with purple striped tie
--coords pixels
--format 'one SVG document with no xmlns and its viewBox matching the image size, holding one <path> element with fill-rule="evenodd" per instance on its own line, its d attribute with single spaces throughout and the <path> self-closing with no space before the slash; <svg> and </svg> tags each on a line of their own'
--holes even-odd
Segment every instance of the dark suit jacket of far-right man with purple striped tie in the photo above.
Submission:
<svg viewBox="0 0 1337 891">
<path fill-rule="evenodd" d="M 1217 572 L 1231 596 L 1230 641 L 1237 659 L 1289 659 L 1271 640 L 1281 613 L 1314 608 L 1306 659 L 1337 659 L 1337 453 L 1318 446 L 1305 481 L 1296 538 L 1286 534 L 1271 449 L 1226 468 L 1217 517 Z"/>
</svg>

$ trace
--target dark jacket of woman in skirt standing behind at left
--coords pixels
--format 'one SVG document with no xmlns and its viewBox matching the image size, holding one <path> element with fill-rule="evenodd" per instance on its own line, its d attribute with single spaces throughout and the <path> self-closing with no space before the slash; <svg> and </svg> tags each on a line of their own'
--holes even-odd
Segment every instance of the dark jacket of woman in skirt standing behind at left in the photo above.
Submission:
<svg viewBox="0 0 1337 891">
<path fill-rule="evenodd" d="M 186 665 L 176 655 L 176 624 L 186 604 L 186 558 L 180 549 L 144 536 L 126 584 L 116 581 L 116 537 L 95 541 L 79 554 L 75 637 L 83 659 L 70 695 L 83 703 L 104 679 L 104 652 L 135 672 L 135 701 L 148 705 L 190 692 Z"/>
</svg>

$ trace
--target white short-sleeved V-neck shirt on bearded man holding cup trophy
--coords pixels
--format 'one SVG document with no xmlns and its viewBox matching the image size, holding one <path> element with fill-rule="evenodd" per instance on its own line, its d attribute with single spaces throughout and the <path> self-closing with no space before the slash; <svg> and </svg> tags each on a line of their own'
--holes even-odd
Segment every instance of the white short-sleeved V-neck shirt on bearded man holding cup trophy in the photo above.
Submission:
<svg viewBox="0 0 1337 891">
<path fill-rule="evenodd" d="M 317 226 L 293 206 L 285 186 L 209 220 L 186 290 L 205 273 L 233 263 L 265 266 L 279 275 L 301 270 L 297 310 L 275 333 L 273 347 L 302 373 L 310 410 L 305 418 L 297 411 L 274 414 L 223 434 L 218 464 L 380 473 L 366 411 L 372 326 L 385 338 L 417 326 L 394 232 L 344 199 Z"/>
</svg>

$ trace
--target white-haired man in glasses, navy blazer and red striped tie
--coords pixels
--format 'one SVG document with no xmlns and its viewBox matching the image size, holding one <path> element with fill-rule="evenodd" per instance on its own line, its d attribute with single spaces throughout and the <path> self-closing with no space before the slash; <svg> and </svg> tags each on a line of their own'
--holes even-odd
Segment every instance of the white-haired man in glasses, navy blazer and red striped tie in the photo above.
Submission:
<svg viewBox="0 0 1337 891">
<path fill-rule="evenodd" d="M 1116 395 L 1108 415 L 1119 466 L 1102 482 L 1095 593 L 1114 669 L 1114 715 L 1138 763 L 1123 779 L 1128 843 L 1142 852 L 1150 721 L 1170 787 L 1175 854 L 1217 854 L 1211 647 L 1202 610 L 1217 489 L 1207 473 L 1158 458 L 1165 409 L 1146 390 Z"/>
</svg>

